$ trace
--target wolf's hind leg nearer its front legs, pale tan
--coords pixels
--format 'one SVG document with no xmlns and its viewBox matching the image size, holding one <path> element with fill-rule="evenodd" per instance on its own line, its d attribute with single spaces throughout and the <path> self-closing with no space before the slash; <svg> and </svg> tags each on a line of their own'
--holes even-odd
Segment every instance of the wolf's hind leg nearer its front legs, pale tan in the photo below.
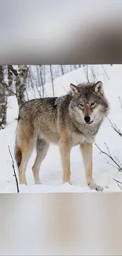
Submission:
<svg viewBox="0 0 122 256">
<path fill-rule="evenodd" d="M 35 163 L 32 167 L 35 184 L 41 184 L 39 179 L 39 169 L 40 165 L 43 162 L 44 158 L 46 157 L 47 151 L 49 149 L 50 144 L 46 142 L 45 139 L 37 139 L 36 143 L 36 158 Z"/>
</svg>

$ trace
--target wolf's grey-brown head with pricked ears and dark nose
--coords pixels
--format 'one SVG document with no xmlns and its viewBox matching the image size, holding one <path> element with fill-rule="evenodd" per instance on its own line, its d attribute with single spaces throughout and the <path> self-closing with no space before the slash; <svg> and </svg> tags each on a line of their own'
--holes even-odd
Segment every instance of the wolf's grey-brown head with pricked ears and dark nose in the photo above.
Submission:
<svg viewBox="0 0 122 256">
<path fill-rule="evenodd" d="M 69 109 L 72 117 L 87 125 L 101 122 L 109 111 L 102 82 L 79 86 L 71 83 L 70 87 L 72 100 Z"/>
</svg>

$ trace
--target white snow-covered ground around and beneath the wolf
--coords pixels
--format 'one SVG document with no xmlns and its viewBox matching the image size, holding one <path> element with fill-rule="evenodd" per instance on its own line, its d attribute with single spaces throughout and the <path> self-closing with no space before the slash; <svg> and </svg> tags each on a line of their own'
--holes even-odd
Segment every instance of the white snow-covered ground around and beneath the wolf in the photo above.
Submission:
<svg viewBox="0 0 122 256">
<path fill-rule="evenodd" d="M 109 118 L 122 132 L 122 109 L 118 99 L 118 96 L 122 98 L 122 65 L 104 65 L 104 67 L 109 79 L 107 76 L 105 76 L 102 65 L 94 65 L 94 70 L 97 80 L 102 80 L 104 83 L 105 95 L 110 104 Z M 85 81 L 86 77 L 83 68 L 69 72 L 65 76 L 61 76 L 54 80 L 55 95 L 65 95 L 65 93 L 69 90 L 70 83 L 80 83 Z M 33 98 L 31 91 L 28 93 L 31 95 L 31 98 Z M 52 96 L 52 87 L 50 83 L 46 84 L 46 95 Z M 17 121 L 15 121 L 15 118 L 18 114 L 16 98 L 10 97 L 8 106 L 8 125 L 4 130 L 0 131 L 0 192 L 17 193 L 17 186 L 13 176 L 12 160 L 10 158 L 8 149 L 9 146 L 13 154 L 15 131 L 17 127 Z M 113 128 L 107 119 L 105 119 L 100 131 L 98 132 L 96 143 L 98 144 L 98 147 L 105 151 L 106 143 L 112 156 L 118 158 L 122 163 L 122 138 L 115 131 L 113 131 Z M 43 161 L 40 169 L 40 178 L 42 181 L 41 185 L 34 184 L 33 175 L 31 172 L 31 166 L 33 165 L 34 161 L 35 151 L 31 155 L 31 159 L 28 162 L 28 169 L 26 172 L 28 186 L 20 185 L 20 193 L 96 192 L 91 191 L 91 189 L 87 187 L 79 147 L 74 147 L 71 153 L 72 186 L 70 184 L 61 183 L 62 172 L 58 147 L 51 145 L 50 150 Z M 93 175 L 95 182 L 105 187 L 103 192 L 121 191 L 120 187 L 113 179 L 122 181 L 122 173 L 120 173 L 118 169 L 114 168 L 112 165 L 109 165 L 108 162 L 113 165 L 113 161 L 111 161 L 105 154 L 100 154 L 98 148 L 94 145 Z M 122 184 L 120 185 L 122 186 Z"/>
</svg>

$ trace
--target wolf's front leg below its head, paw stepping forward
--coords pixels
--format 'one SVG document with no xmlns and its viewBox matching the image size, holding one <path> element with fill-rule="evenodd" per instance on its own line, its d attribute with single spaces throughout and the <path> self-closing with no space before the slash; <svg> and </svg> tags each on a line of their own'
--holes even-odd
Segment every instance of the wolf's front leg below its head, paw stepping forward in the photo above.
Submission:
<svg viewBox="0 0 122 256">
<path fill-rule="evenodd" d="M 83 155 L 83 164 L 86 173 L 87 184 L 89 187 L 91 187 L 91 189 L 102 191 L 103 188 L 94 183 L 92 176 L 92 148 L 92 143 L 83 143 L 80 145 L 80 150 Z"/>
</svg>

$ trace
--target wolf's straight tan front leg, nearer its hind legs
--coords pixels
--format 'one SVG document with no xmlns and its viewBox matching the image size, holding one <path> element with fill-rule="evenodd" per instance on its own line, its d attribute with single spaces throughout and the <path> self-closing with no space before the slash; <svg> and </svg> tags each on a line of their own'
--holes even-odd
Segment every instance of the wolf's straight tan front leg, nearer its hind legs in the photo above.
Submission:
<svg viewBox="0 0 122 256">
<path fill-rule="evenodd" d="M 70 183 L 70 176 L 71 176 L 71 170 L 70 170 L 70 143 L 68 142 L 68 139 L 65 139 L 63 136 L 60 139 L 59 142 L 59 148 L 60 148 L 60 154 L 61 154 L 61 165 L 63 169 L 63 183 L 68 182 Z"/>
</svg>

